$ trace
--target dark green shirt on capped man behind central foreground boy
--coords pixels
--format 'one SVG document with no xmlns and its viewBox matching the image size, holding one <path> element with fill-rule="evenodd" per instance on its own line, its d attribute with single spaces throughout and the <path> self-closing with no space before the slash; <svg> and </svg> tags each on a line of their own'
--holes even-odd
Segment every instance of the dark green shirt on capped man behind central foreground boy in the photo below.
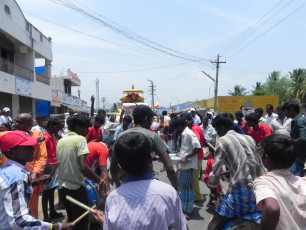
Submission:
<svg viewBox="0 0 306 230">
<path fill-rule="evenodd" d="M 160 138 L 160 136 L 156 132 L 152 132 L 148 129 L 142 128 L 142 127 L 134 127 L 131 129 L 128 129 L 122 133 L 119 134 L 117 137 L 117 140 L 121 135 L 130 133 L 130 132 L 136 132 L 136 133 L 142 133 L 144 134 L 150 141 L 151 143 L 151 150 L 154 151 L 158 156 L 161 156 L 164 152 L 167 151 L 168 147 L 163 142 L 163 140 Z"/>
</svg>

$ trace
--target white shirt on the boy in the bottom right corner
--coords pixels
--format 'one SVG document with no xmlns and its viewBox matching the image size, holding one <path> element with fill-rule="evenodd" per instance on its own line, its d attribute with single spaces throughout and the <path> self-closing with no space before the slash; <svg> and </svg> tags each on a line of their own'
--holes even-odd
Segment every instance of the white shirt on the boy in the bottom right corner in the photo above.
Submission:
<svg viewBox="0 0 306 230">
<path fill-rule="evenodd" d="M 287 169 L 272 170 L 255 179 L 254 193 L 259 209 L 266 198 L 274 198 L 280 207 L 276 230 L 306 229 L 306 178 Z"/>
</svg>

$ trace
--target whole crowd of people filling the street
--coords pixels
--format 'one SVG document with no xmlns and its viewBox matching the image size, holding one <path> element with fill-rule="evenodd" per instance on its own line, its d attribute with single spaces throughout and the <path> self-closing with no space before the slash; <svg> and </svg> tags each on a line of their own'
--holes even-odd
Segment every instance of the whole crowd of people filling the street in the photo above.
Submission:
<svg viewBox="0 0 306 230">
<path fill-rule="evenodd" d="M 67 198 L 89 206 L 87 180 L 99 194 L 93 215 L 103 229 L 188 229 L 194 202 L 204 201 L 199 178 L 215 208 L 209 230 L 229 223 L 306 229 L 306 118 L 298 103 L 275 110 L 268 104 L 266 116 L 244 106 L 234 115 L 195 108 L 158 115 L 137 105 L 131 115 L 122 110 L 116 123 L 104 110 L 95 115 L 94 101 L 89 116 L 35 121 L 21 113 L 13 121 L 10 109 L 2 110 L 0 229 L 89 229 L 88 216 L 73 223 L 85 210 Z M 155 178 L 154 157 L 171 185 Z M 227 191 L 220 180 L 229 182 Z M 64 216 L 56 211 L 56 189 L 67 213 L 61 223 L 52 223 Z"/>
</svg>

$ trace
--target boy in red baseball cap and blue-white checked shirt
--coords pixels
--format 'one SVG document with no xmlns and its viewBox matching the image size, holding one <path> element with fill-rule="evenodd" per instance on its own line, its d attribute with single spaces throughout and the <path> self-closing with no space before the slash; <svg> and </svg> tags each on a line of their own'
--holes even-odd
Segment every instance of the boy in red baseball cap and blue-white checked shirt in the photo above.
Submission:
<svg viewBox="0 0 306 230">
<path fill-rule="evenodd" d="M 70 223 L 50 224 L 35 219 L 29 210 L 29 200 L 33 193 L 32 185 L 50 180 L 44 175 L 32 181 L 30 171 L 25 167 L 34 159 L 34 146 L 43 138 L 33 138 L 22 131 L 6 133 L 0 140 L 2 153 L 8 158 L 0 170 L 0 229 L 69 229 Z"/>
</svg>

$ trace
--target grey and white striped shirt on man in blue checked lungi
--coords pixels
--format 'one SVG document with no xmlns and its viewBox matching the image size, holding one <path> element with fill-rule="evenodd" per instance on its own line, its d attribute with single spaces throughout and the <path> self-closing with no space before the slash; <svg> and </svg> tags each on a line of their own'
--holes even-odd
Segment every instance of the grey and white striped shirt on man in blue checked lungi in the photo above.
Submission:
<svg viewBox="0 0 306 230">
<path fill-rule="evenodd" d="M 230 171 L 229 192 L 234 191 L 236 185 L 252 183 L 265 172 L 254 139 L 233 130 L 217 141 L 215 161 L 208 178 L 209 186 L 218 186 L 223 164 Z"/>
</svg>

